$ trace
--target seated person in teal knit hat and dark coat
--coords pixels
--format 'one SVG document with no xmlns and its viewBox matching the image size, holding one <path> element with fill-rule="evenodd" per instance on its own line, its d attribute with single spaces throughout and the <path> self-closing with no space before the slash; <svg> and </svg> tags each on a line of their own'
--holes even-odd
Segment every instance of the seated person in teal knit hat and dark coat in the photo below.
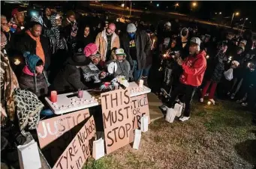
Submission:
<svg viewBox="0 0 256 169">
<path fill-rule="evenodd" d="M 50 85 L 44 72 L 44 62 L 38 55 L 32 55 L 30 52 L 25 52 L 23 56 L 26 58 L 26 66 L 20 76 L 20 88 L 30 90 L 39 99 L 44 98 Z"/>
</svg>

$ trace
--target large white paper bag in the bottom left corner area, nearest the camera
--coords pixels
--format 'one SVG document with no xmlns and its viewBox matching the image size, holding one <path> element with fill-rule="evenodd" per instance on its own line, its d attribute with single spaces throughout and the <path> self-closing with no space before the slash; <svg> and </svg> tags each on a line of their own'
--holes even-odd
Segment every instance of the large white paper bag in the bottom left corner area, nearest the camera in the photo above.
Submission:
<svg viewBox="0 0 256 169">
<path fill-rule="evenodd" d="M 38 144 L 35 140 L 30 141 L 28 144 L 20 145 L 17 148 L 21 169 L 41 168 Z"/>
</svg>

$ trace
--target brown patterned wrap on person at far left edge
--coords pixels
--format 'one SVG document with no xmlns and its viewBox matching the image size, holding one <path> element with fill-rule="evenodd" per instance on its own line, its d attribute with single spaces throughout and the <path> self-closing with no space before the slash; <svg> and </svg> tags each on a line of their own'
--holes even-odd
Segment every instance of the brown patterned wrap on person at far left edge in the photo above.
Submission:
<svg viewBox="0 0 256 169">
<path fill-rule="evenodd" d="M 10 120 L 14 120 L 15 106 L 14 106 L 14 89 L 19 87 L 17 77 L 14 71 L 11 69 L 11 65 L 8 60 L 8 56 L 1 52 L 1 67 L 0 67 L 0 84 L 2 98 L 5 100 L 5 104 L 2 105 L 5 109 L 1 109 L 1 114 L 6 114 Z M 5 107 L 6 105 L 6 107 Z"/>
</svg>

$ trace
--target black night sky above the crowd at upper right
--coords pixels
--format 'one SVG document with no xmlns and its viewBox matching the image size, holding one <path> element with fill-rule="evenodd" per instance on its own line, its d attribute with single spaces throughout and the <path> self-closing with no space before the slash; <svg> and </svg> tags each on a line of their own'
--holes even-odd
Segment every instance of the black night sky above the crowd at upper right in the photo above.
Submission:
<svg viewBox="0 0 256 169">
<path fill-rule="evenodd" d="M 179 3 L 179 7 L 176 7 L 176 11 L 179 13 L 191 14 L 191 3 L 193 1 L 133 1 L 135 4 L 134 7 L 146 7 L 159 8 L 160 10 L 174 11 L 174 4 Z M 215 17 L 215 12 L 221 12 L 221 19 L 224 17 L 229 17 L 224 20 L 230 22 L 231 16 L 234 12 L 239 12 L 239 16 L 233 18 L 233 22 L 242 25 L 243 20 L 246 17 L 248 20 L 245 22 L 245 26 L 249 28 L 255 28 L 256 25 L 256 1 L 196 1 L 197 7 L 193 10 L 193 15 L 197 16 L 200 19 L 212 20 Z M 159 4 L 159 7 L 156 5 Z M 218 14 L 219 15 L 219 14 Z M 251 23 L 250 23 L 251 22 Z"/>
</svg>

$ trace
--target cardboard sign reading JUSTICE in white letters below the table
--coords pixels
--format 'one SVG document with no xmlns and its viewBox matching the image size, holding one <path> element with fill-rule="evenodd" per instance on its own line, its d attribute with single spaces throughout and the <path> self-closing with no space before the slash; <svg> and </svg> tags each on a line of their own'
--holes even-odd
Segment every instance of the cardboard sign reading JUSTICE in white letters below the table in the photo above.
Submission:
<svg viewBox="0 0 256 169">
<path fill-rule="evenodd" d="M 37 129 L 41 149 L 55 141 L 65 132 L 74 128 L 74 126 L 77 126 L 77 124 L 81 123 L 89 116 L 89 110 L 85 109 L 71 114 L 41 120 Z"/>
</svg>

